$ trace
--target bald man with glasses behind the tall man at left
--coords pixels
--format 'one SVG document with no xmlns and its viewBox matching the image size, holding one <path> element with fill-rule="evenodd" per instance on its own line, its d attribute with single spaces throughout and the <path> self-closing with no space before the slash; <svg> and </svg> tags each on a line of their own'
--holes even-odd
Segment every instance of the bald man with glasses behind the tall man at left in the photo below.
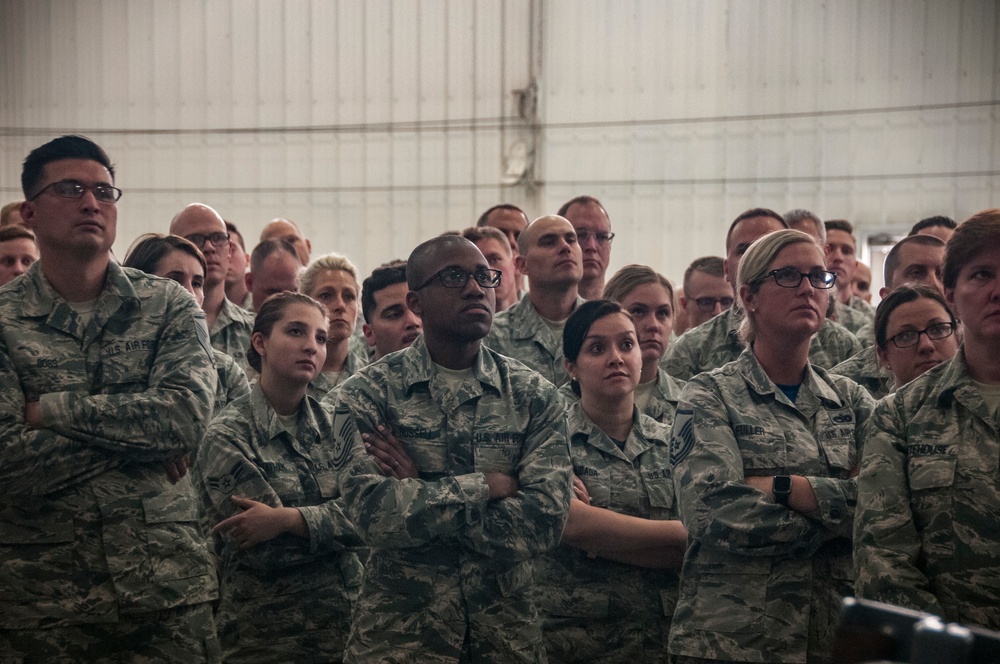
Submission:
<svg viewBox="0 0 1000 664">
<path fill-rule="evenodd" d="M 190 240 L 205 254 L 205 301 L 212 347 L 242 360 L 250 345 L 253 314 L 226 297 L 226 274 L 233 251 L 226 222 L 218 212 L 202 203 L 191 203 L 170 222 L 170 234 Z"/>
</svg>

